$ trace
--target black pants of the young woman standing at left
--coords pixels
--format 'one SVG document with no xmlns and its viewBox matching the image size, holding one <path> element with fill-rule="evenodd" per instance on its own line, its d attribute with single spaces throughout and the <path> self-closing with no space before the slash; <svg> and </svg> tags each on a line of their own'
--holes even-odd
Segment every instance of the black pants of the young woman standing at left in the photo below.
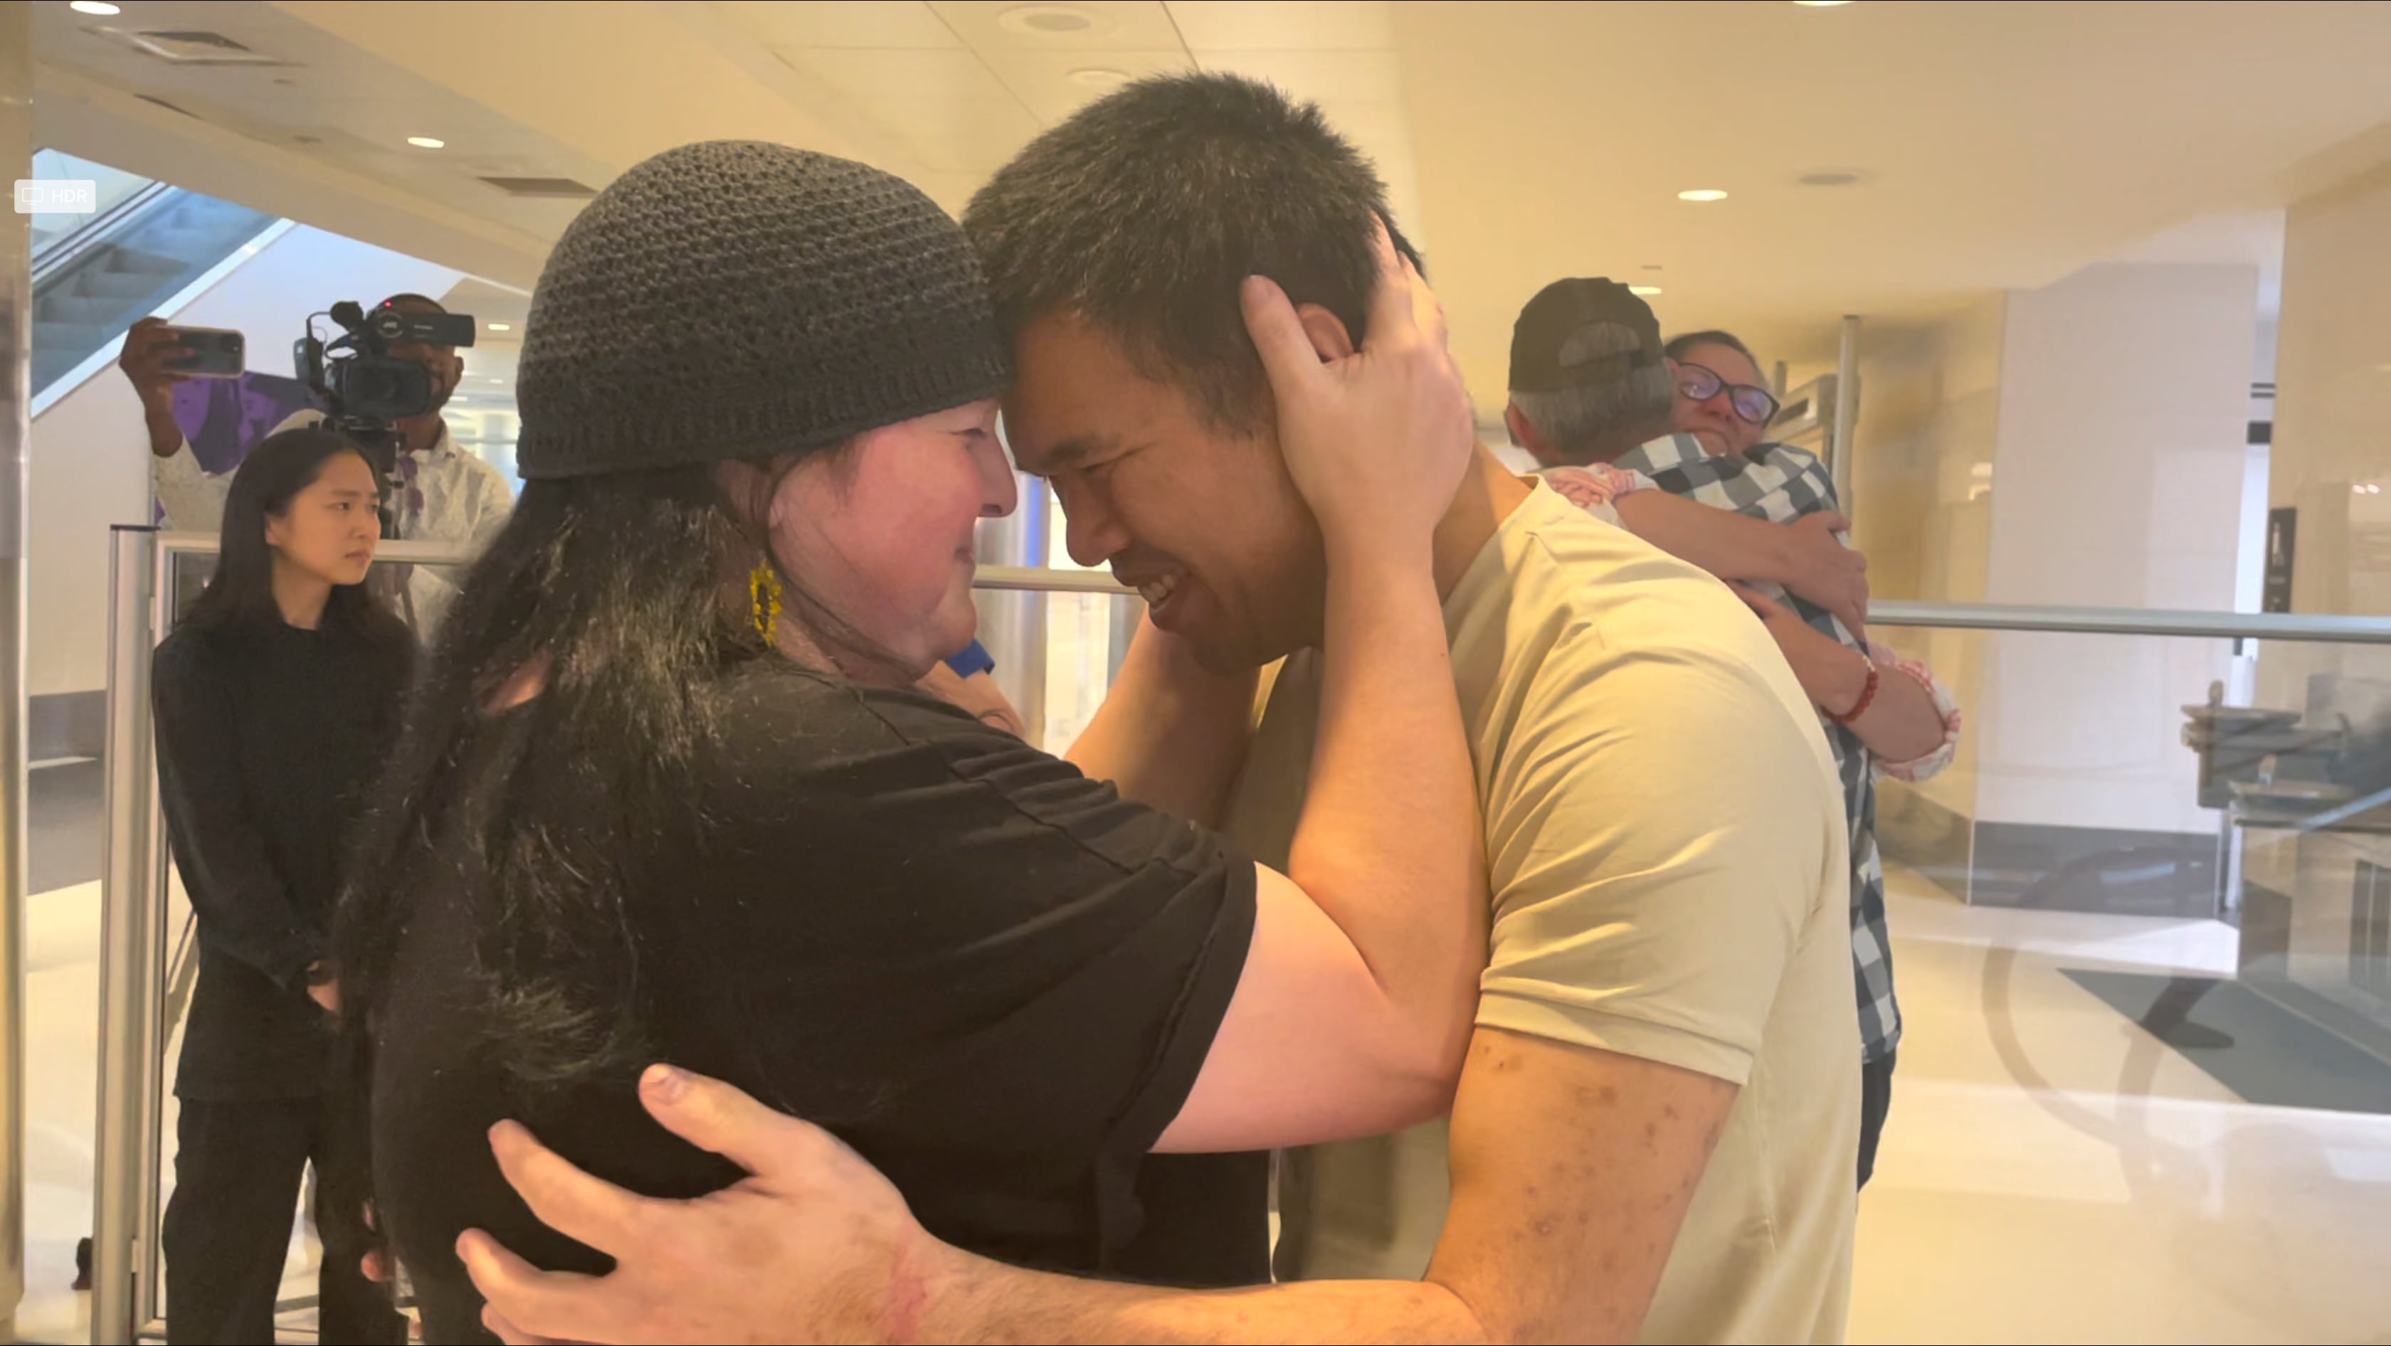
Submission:
<svg viewBox="0 0 2391 1346">
<path fill-rule="evenodd" d="M 165 1207 L 165 1339 L 273 1341 L 299 1181 L 316 1164 L 320 1341 L 397 1346 L 406 1320 L 366 1279 L 363 1164 L 320 1100 L 182 1100 L 175 1198 Z"/>
</svg>

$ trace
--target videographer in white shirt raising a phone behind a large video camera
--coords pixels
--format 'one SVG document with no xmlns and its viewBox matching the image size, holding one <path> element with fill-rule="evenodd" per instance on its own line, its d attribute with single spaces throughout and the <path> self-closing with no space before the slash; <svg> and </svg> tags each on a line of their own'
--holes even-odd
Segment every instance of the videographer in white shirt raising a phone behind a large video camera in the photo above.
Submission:
<svg viewBox="0 0 2391 1346">
<path fill-rule="evenodd" d="M 421 294 L 392 294 L 380 308 L 447 313 L 447 308 Z M 191 454 L 191 445 L 182 438 L 182 428 L 175 426 L 175 385 L 184 375 L 170 371 L 167 361 L 184 354 L 189 351 L 175 344 L 172 325 L 163 318 L 143 318 L 124 335 L 124 354 L 117 359 L 117 366 L 124 368 L 124 378 L 141 394 L 151 454 L 155 454 L 151 481 L 158 488 L 158 504 L 165 507 L 167 526 L 213 533 L 225 519 L 225 492 L 232 488 L 232 473 L 201 469 Z M 464 359 L 457 356 L 457 347 L 411 339 L 390 342 L 387 354 L 423 366 L 430 380 L 430 406 L 418 416 L 390 423 L 397 433 L 397 490 L 392 490 L 392 500 L 387 502 L 395 524 L 392 531 L 399 538 L 418 543 L 469 543 L 481 547 L 507 524 L 507 514 L 514 509 L 514 492 L 507 490 L 507 478 L 497 469 L 459 449 L 450 440 L 447 421 L 440 418 L 440 409 L 447 406 L 450 394 L 457 392 L 457 383 L 464 378 Z M 275 426 L 275 430 L 316 426 L 323 418 L 323 411 L 299 411 Z M 433 581 L 442 591 L 450 588 L 447 581 L 416 571 L 416 581 L 409 588 L 418 595 L 418 610 L 423 581 Z"/>
</svg>

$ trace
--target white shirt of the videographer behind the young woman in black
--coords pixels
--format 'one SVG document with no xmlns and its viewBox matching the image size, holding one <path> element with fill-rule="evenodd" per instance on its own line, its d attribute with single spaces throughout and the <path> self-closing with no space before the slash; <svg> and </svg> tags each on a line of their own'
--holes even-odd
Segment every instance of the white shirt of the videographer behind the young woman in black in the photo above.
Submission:
<svg viewBox="0 0 2391 1346">
<path fill-rule="evenodd" d="M 294 411 L 275 426 L 275 433 L 323 423 L 323 411 Z M 514 512 L 514 492 L 495 466 L 459 449 L 440 426 L 433 447 L 409 454 L 416 469 L 416 490 L 392 502 L 399 538 L 409 543 L 461 543 L 478 557 L 490 538 L 507 526 Z M 151 459 L 151 483 L 158 504 L 165 509 L 167 528 L 215 533 L 225 526 L 225 495 L 232 490 L 232 473 L 210 473 L 198 466 L 191 445 L 184 442 L 170 459 Z M 416 500 L 421 495 L 421 500 Z M 471 557 L 469 557 L 471 562 Z M 406 593 L 414 600 L 418 634 L 430 634 L 440 614 L 457 598 L 461 567 L 414 567 Z"/>
</svg>

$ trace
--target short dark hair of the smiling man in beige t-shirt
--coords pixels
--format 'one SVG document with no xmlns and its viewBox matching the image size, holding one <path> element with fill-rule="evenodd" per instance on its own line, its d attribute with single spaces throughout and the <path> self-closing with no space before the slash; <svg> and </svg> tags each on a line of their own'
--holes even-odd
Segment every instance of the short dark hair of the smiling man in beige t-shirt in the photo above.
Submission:
<svg viewBox="0 0 2391 1346">
<path fill-rule="evenodd" d="M 1239 285 L 1267 275 L 1360 342 L 1377 222 L 1420 265 L 1387 184 L 1320 108 L 1229 74 L 1141 79 L 1090 103 L 964 213 L 1007 337 L 1074 313 L 1236 430 L 1267 397 Z"/>
</svg>

